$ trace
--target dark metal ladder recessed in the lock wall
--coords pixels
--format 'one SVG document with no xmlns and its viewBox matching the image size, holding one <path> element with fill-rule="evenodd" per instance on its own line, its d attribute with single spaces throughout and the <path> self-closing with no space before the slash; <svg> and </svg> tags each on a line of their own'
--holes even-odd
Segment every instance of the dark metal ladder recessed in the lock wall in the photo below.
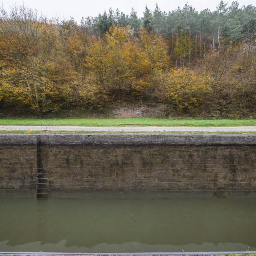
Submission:
<svg viewBox="0 0 256 256">
<path fill-rule="evenodd" d="M 49 198 L 49 137 L 37 136 L 37 187 L 36 198 Z"/>
</svg>

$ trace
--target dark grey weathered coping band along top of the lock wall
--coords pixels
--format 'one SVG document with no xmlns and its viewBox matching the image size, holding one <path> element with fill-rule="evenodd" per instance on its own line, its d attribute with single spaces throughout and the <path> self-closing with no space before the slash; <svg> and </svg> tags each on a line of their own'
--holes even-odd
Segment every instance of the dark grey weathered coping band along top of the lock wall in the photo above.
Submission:
<svg viewBox="0 0 256 256">
<path fill-rule="evenodd" d="M 256 134 L 0 134 L 0 145 L 256 146 Z"/>
</svg>

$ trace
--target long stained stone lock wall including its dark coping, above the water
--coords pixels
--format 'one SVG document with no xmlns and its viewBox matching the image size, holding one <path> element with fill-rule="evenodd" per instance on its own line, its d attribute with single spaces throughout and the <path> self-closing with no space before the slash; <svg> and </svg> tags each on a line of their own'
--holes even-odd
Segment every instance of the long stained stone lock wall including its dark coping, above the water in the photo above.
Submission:
<svg viewBox="0 0 256 256">
<path fill-rule="evenodd" d="M 2 134 L 0 197 L 35 191 L 39 165 L 49 191 L 254 192 L 255 159 L 256 135 Z"/>
</svg>

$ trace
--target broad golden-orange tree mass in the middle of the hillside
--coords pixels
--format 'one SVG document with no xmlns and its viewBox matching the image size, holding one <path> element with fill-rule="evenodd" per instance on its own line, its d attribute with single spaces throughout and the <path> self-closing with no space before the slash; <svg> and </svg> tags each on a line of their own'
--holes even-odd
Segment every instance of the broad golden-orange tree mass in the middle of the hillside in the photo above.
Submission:
<svg viewBox="0 0 256 256">
<path fill-rule="evenodd" d="M 142 28 L 135 37 L 130 27 L 113 25 L 88 54 L 86 88 L 94 88 L 109 101 L 143 99 L 146 90 L 158 86 L 152 78 L 166 67 L 166 51 L 166 43 L 156 34 Z M 86 88 L 84 95 L 92 97 Z"/>
</svg>

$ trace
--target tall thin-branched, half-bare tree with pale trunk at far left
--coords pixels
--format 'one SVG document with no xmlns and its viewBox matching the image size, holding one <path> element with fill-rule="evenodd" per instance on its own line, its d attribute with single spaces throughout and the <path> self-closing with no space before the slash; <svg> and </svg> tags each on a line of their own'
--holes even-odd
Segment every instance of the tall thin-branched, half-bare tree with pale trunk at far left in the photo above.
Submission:
<svg viewBox="0 0 256 256">
<path fill-rule="evenodd" d="M 44 45 L 46 23 L 36 11 L 25 6 L 12 7 L 9 15 L 0 8 L 0 15 L 0 40 L 5 50 L 4 73 L 9 77 L 19 76 L 27 86 L 29 98 L 39 106 L 40 88 L 45 86 L 40 79 L 45 56 L 39 56 L 38 50 Z M 44 46 L 51 47 L 50 44 Z"/>
</svg>

